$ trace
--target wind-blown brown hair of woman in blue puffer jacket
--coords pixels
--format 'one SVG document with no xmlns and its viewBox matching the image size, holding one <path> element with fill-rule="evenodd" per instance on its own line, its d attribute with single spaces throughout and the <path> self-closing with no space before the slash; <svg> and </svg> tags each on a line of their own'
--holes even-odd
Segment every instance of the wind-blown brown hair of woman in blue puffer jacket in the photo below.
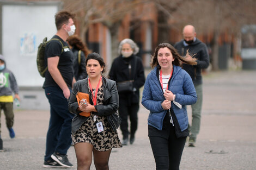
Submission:
<svg viewBox="0 0 256 170">
<path fill-rule="evenodd" d="M 175 66 L 180 66 L 181 67 L 181 63 L 184 62 L 185 64 L 189 64 L 189 65 L 196 65 L 197 62 L 195 58 L 191 58 L 191 59 L 186 59 L 182 56 L 180 56 L 180 54 L 178 53 L 178 51 L 169 43 L 160 43 L 156 49 L 155 49 L 155 53 L 152 56 L 152 60 L 151 60 L 151 67 L 154 68 L 155 66 L 159 66 L 159 62 L 157 61 L 157 54 L 160 48 L 164 48 L 167 47 L 170 49 L 170 52 L 173 55 L 174 61 L 173 61 L 173 65 Z"/>
</svg>

